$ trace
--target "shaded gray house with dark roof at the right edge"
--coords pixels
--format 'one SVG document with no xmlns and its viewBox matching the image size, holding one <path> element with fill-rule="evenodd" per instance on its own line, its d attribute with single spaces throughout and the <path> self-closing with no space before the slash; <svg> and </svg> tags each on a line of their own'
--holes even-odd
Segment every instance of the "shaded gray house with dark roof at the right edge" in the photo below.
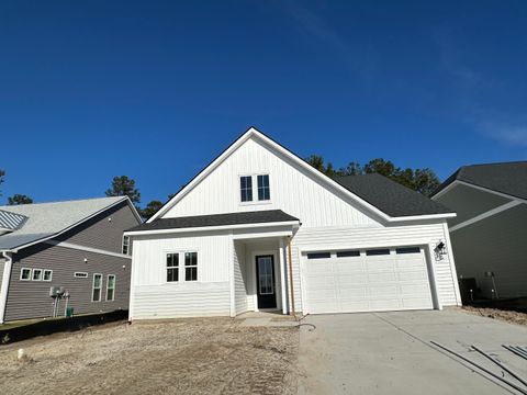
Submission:
<svg viewBox="0 0 527 395">
<path fill-rule="evenodd" d="M 449 218 L 460 279 L 484 297 L 527 296 L 527 161 L 463 166 L 433 200 Z"/>
</svg>

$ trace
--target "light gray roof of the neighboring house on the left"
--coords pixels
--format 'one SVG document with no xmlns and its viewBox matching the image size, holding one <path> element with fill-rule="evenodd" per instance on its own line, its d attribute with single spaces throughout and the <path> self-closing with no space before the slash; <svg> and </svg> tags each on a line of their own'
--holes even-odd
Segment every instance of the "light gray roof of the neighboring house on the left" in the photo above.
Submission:
<svg viewBox="0 0 527 395">
<path fill-rule="evenodd" d="M 0 235 L 0 250 L 24 248 L 58 236 L 125 201 L 132 206 L 127 196 L 0 206 L 3 212 L 26 217 L 18 229 Z M 139 221 L 135 208 L 133 211 Z"/>
</svg>

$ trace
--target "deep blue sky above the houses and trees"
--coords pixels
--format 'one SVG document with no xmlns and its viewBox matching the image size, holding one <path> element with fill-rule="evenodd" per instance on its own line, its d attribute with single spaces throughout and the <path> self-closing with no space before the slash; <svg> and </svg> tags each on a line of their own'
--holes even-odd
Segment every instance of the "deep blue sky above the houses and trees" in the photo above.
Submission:
<svg viewBox="0 0 527 395">
<path fill-rule="evenodd" d="M 3 196 L 177 191 L 248 126 L 336 167 L 527 158 L 525 1 L 2 1 Z"/>
</svg>

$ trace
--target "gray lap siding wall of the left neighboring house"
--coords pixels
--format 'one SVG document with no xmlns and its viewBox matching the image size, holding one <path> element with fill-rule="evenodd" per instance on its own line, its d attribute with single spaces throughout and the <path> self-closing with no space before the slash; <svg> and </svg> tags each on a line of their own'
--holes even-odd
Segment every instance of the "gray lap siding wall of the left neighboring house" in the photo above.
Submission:
<svg viewBox="0 0 527 395">
<path fill-rule="evenodd" d="M 88 262 L 85 262 L 85 258 Z M 125 267 L 123 269 L 123 266 Z M 69 306 L 76 314 L 110 312 L 128 308 L 132 260 L 65 247 L 36 245 L 13 256 L 13 268 L 8 291 L 5 320 L 49 317 L 53 314 L 52 285 L 64 286 L 70 294 Z M 51 269 L 53 279 L 21 281 L 22 268 Z M 88 278 L 75 278 L 75 272 L 86 272 Z M 102 274 L 101 302 L 91 302 L 93 274 Z M 108 274 L 115 275 L 115 297 L 106 302 Z M 59 312 L 64 314 L 65 301 Z"/>
</svg>

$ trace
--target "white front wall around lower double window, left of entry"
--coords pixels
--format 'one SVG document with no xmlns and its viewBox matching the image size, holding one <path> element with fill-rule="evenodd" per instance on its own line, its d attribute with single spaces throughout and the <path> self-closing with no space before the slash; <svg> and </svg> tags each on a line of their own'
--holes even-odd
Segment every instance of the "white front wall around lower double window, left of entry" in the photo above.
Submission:
<svg viewBox="0 0 527 395">
<path fill-rule="evenodd" d="M 229 315 L 228 234 L 134 237 L 132 318 Z M 167 283 L 166 253 L 198 252 L 198 281 Z M 179 262 L 180 267 L 184 266 Z"/>
</svg>

